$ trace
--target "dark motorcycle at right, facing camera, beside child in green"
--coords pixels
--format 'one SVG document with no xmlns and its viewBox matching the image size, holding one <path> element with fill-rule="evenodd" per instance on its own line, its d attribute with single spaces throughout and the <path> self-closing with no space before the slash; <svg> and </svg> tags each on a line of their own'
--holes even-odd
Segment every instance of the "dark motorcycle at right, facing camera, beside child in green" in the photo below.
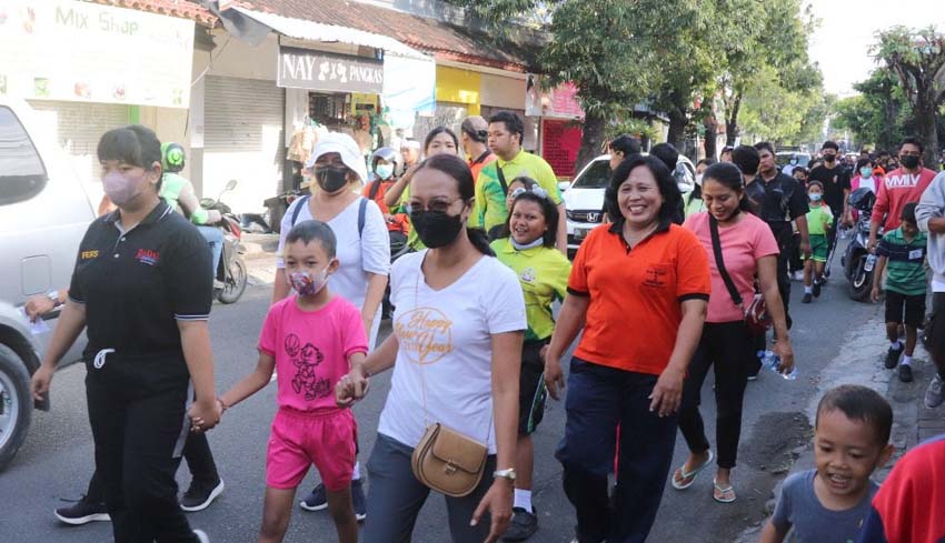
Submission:
<svg viewBox="0 0 945 543">
<path fill-rule="evenodd" d="M 876 255 L 868 250 L 869 218 L 873 213 L 873 204 L 876 202 L 876 194 L 868 188 L 862 187 L 849 194 L 847 202 L 850 208 L 859 212 L 859 218 L 852 229 L 852 238 L 840 264 L 849 281 L 849 298 L 857 302 L 869 302 L 876 267 Z M 882 229 L 879 235 L 883 235 Z"/>
</svg>

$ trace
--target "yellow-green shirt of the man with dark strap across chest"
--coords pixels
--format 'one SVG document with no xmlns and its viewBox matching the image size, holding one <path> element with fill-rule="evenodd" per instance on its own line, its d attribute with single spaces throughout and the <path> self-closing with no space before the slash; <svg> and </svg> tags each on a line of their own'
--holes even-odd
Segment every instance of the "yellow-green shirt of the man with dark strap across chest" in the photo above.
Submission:
<svg viewBox="0 0 945 543">
<path fill-rule="evenodd" d="M 476 181 L 476 208 L 469 217 L 469 225 L 484 228 L 487 232 L 496 225 L 505 224 L 508 219 L 506 193 L 499 182 L 498 168 L 503 169 L 506 184 L 519 175 L 528 175 L 545 189 L 555 204 L 561 203 L 561 191 L 558 189 L 558 178 L 545 159 L 525 151 L 506 162 L 501 158 L 489 162 L 479 172 Z"/>
</svg>

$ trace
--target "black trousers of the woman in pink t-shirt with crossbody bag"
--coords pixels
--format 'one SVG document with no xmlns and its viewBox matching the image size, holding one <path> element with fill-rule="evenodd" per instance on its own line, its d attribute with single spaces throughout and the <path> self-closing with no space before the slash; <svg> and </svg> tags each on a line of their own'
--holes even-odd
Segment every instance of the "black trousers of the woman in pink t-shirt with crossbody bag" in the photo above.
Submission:
<svg viewBox="0 0 945 543">
<path fill-rule="evenodd" d="M 742 403 L 748 383 L 752 349 L 752 333 L 744 321 L 705 323 L 699 346 L 689 363 L 689 374 L 683 385 L 679 430 L 689 451 L 702 453 L 709 450 L 705 423 L 699 414 L 702 388 L 709 368 L 715 371 L 715 441 L 719 467 L 735 467 L 738 455 Z"/>
</svg>

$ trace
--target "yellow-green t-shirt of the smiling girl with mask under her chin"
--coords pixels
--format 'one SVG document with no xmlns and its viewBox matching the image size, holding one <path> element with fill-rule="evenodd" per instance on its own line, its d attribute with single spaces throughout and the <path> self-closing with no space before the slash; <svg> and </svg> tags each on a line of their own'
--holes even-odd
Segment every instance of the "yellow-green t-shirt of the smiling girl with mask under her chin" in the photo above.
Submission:
<svg viewBox="0 0 945 543">
<path fill-rule="evenodd" d="M 499 262 L 511 268 L 525 294 L 528 319 L 526 341 L 545 340 L 555 331 L 551 303 L 564 299 L 568 290 L 571 263 L 555 248 L 536 247 L 518 251 L 511 240 L 503 238 L 491 243 Z"/>
</svg>

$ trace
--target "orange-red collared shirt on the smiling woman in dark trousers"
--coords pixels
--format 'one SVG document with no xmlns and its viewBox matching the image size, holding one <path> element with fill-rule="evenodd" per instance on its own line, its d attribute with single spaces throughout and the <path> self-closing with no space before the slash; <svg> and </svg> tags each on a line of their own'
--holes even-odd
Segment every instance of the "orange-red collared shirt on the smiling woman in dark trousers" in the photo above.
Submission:
<svg viewBox="0 0 945 543">
<path fill-rule="evenodd" d="M 591 230 L 575 257 L 568 292 L 590 296 L 575 356 L 659 375 L 676 345 L 682 303 L 709 298 L 708 258 L 696 235 L 676 224 L 629 249 L 621 224 Z"/>
</svg>

